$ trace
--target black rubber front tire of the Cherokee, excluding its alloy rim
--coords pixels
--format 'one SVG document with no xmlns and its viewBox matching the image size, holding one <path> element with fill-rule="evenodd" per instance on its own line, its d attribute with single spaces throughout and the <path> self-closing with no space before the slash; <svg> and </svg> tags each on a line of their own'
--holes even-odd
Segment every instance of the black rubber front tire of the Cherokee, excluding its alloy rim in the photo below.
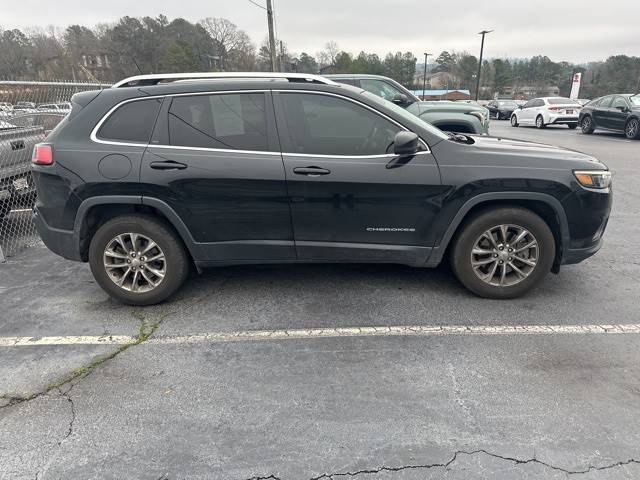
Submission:
<svg viewBox="0 0 640 480">
<path fill-rule="evenodd" d="M 471 252 L 476 241 L 484 232 L 499 225 L 523 227 L 531 232 L 537 241 L 538 258 L 535 267 L 526 278 L 514 285 L 491 285 L 476 274 L 471 264 Z M 476 295 L 484 298 L 508 299 L 524 295 L 538 285 L 551 270 L 555 254 L 553 233 L 542 218 L 530 210 L 504 207 L 481 211 L 465 221 L 454 240 L 450 262 L 460 283 Z M 511 272 L 515 274 L 513 270 Z"/>
</svg>

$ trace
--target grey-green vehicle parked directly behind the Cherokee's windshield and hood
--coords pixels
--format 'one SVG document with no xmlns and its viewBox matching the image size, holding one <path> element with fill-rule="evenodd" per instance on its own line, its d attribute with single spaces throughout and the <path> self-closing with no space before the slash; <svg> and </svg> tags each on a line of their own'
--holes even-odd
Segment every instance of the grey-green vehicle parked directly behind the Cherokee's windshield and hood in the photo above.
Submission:
<svg viewBox="0 0 640 480">
<path fill-rule="evenodd" d="M 476 135 L 489 133 L 489 112 L 484 107 L 450 101 L 425 102 L 395 80 L 381 75 L 335 74 L 325 77 L 389 100 L 440 130 Z"/>
</svg>

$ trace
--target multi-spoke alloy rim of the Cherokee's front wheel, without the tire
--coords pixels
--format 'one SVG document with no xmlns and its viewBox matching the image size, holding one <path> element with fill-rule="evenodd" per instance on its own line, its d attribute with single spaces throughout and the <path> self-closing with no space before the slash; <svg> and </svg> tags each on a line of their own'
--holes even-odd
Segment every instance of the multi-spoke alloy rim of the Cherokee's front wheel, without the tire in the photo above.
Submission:
<svg viewBox="0 0 640 480">
<path fill-rule="evenodd" d="M 538 241 L 518 225 L 497 225 L 478 237 L 471 250 L 471 266 L 485 283 L 510 287 L 525 280 L 538 264 Z"/>
</svg>

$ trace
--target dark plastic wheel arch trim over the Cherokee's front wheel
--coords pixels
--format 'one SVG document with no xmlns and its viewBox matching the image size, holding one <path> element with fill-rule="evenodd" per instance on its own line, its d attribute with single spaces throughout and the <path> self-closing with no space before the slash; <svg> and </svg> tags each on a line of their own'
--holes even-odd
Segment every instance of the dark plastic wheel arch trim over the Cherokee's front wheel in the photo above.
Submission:
<svg viewBox="0 0 640 480">
<path fill-rule="evenodd" d="M 569 246 L 569 222 L 565 210 L 558 199 L 538 192 L 495 192 L 481 193 L 468 200 L 453 217 L 440 242 L 434 246 L 428 259 L 429 266 L 438 265 L 447 255 L 452 240 L 464 227 L 465 222 L 478 212 L 490 208 L 519 207 L 533 211 L 551 229 L 556 241 L 554 272 L 562 261 L 563 252 Z"/>
</svg>

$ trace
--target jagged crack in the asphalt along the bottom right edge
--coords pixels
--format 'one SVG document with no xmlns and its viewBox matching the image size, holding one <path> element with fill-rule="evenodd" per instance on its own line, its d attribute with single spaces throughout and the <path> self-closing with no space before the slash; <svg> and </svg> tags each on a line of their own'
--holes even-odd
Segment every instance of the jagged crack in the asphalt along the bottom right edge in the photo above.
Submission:
<svg viewBox="0 0 640 480">
<path fill-rule="evenodd" d="M 425 463 L 425 464 L 416 464 L 416 465 L 401 465 L 397 467 L 381 466 L 381 467 L 376 467 L 372 469 L 357 470 L 354 472 L 323 473 L 322 475 L 319 475 L 317 477 L 312 477 L 310 480 L 332 480 L 334 478 L 339 478 L 339 477 L 355 477 L 358 475 L 376 475 L 382 472 L 401 472 L 403 470 L 418 470 L 418 469 L 428 470 L 431 468 L 447 469 L 458 460 L 459 456 L 462 456 L 462 455 L 472 456 L 472 455 L 479 455 L 479 454 L 484 454 L 489 457 L 497 458 L 507 462 L 513 462 L 517 465 L 526 465 L 526 464 L 532 464 L 532 463 L 538 464 L 538 465 L 544 466 L 545 468 L 549 468 L 551 470 L 563 472 L 567 475 L 582 475 L 592 471 L 609 470 L 609 469 L 619 468 L 619 467 L 630 465 L 630 464 L 640 464 L 640 460 L 630 458 L 628 460 L 622 460 L 622 461 L 611 463 L 608 465 L 602 465 L 602 466 L 589 465 L 583 469 L 571 470 L 571 469 L 559 467 L 557 465 L 552 465 L 542 460 L 538 460 L 537 458 L 521 459 L 516 457 L 499 455 L 497 453 L 492 453 L 484 449 L 478 449 L 473 451 L 458 450 L 453 454 L 453 457 L 451 457 L 451 459 L 446 463 Z M 266 477 L 266 478 L 269 478 L 269 477 Z"/>
</svg>

